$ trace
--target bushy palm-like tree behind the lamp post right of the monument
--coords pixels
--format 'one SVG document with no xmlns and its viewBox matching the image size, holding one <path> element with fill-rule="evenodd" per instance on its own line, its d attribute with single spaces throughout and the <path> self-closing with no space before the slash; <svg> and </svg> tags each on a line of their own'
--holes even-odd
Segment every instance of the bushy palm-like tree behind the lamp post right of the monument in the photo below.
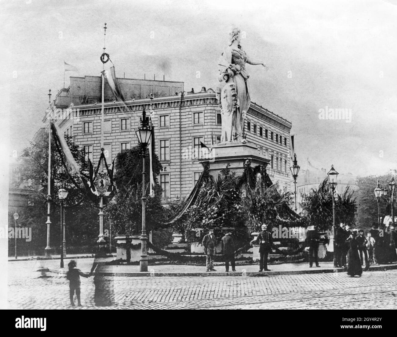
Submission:
<svg viewBox="0 0 397 337">
<path fill-rule="evenodd" d="M 302 194 L 301 207 L 306 214 L 306 226 L 316 226 L 319 231 L 330 231 L 333 226 L 332 195 L 328 178 L 317 190 Z M 335 196 L 335 223 L 355 225 L 357 202 L 354 191 L 348 186 L 343 193 Z"/>
</svg>

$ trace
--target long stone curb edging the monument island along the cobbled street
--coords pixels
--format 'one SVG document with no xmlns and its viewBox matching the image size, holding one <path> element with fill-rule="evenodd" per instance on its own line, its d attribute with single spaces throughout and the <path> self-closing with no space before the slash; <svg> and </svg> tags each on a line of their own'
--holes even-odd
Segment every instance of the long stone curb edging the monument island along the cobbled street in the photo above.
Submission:
<svg viewBox="0 0 397 337">
<path fill-rule="evenodd" d="M 372 266 L 370 272 L 385 271 L 397 269 L 397 264 L 390 264 L 385 266 Z M 66 274 L 67 270 L 48 269 L 49 272 L 56 274 Z M 311 270 L 283 270 L 283 271 L 270 271 L 270 272 L 187 272 L 187 273 L 150 273 L 150 272 L 131 272 L 131 273 L 118 273 L 118 272 L 101 272 L 102 276 L 129 276 L 129 277 L 211 277 L 211 276 L 245 276 L 245 277 L 263 277 L 273 275 L 299 275 L 299 274 L 322 274 L 322 273 L 340 273 L 345 272 L 343 268 L 328 268 L 328 269 L 311 269 Z M 96 273 L 94 273 L 96 274 Z"/>
</svg>

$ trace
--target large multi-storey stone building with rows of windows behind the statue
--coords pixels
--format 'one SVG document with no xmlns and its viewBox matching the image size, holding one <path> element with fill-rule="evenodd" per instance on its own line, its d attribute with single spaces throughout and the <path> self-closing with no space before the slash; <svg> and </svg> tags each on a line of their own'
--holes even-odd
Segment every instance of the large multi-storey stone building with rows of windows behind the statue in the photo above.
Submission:
<svg viewBox="0 0 397 337">
<path fill-rule="evenodd" d="M 100 156 L 101 77 L 71 77 L 69 88 L 58 92 L 51 103 L 56 122 L 72 135 L 94 162 Z M 185 92 L 183 82 L 118 79 L 124 103 L 116 101 L 106 83 L 104 103 L 104 149 L 108 161 L 123 149 L 138 144 L 135 131 L 143 109 L 150 111 L 155 127 L 155 149 L 163 169 L 158 181 L 166 204 L 184 198 L 202 171 L 203 147 L 220 142 L 221 114 L 212 89 Z M 150 94 L 154 99 L 150 100 Z M 44 117 L 43 122 L 46 121 Z M 291 123 L 251 103 L 245 120 L 247 142 L 269 159 L 267 172 L 280 189 L 290 189 L 289 133 Z M 204 147 L 205 149 L 205 147 Z M 116 167 L 117 170 L 117 167 Z"/>
</svg>

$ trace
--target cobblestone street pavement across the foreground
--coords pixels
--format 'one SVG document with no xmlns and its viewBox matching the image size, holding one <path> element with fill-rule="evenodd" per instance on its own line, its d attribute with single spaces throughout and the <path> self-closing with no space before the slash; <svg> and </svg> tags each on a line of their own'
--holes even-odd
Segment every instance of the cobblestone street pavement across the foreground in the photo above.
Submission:
<svg viewBox="0 0 397 337">
<path fill-rule="evenodd" d="M 8 303 L 12 309 L 68 309 L 65 276 L 37 272 L 37 261 L 8 262 Z M 397 270 L 275 275 L 264 277 L 102 276 L 94 303 L 93 278 L 81 278 L 83 307 L 72 309 L 394 309 Z"/>
</svg>

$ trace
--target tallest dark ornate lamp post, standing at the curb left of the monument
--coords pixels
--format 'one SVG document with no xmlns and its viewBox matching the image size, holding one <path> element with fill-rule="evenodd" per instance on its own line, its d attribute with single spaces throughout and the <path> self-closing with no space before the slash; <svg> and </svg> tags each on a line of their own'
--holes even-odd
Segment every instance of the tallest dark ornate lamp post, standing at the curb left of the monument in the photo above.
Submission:
<svg viewBox="0 0 397 337">
<path fill-rule="evenodd" d="M 146 118 L 145 108 L 142 111 L 141 118 L 141 126 L 136 131 L 139 144 L 142 149 L 142 233 L 141 233 L 141 258 L 139 259 L 139 271 L 147 272 L 148 271 L 148 258 L 146 253 L 146 243 L 147 243 L 147 235 L 146 235 L 146 188 L 145 188 L 145 150 L 150 141 L 150 136 L 152 135 L 152 129 L 150 126 L 150 119 Z"/>
</svg>

